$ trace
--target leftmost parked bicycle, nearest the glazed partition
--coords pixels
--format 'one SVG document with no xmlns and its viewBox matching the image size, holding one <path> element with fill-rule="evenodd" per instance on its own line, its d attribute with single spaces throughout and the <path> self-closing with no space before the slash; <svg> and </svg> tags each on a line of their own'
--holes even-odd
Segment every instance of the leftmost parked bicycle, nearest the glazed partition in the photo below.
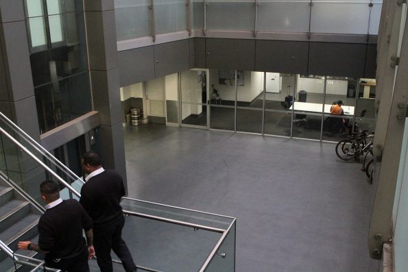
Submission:
<svg viewBox="0 0 408 272">
<path fill-rule="evenodd" d="M 341 140 L 336 145 L 336 155 L 341 160 L 359 160 L 360 156 L 372 148 L 372 138 L 374 132 L 368 133 L 367 130 L 361 133 L 354 133 L 346 140 Z M 370 140 L 368 142 L 368 140 Z"/>
</svg>

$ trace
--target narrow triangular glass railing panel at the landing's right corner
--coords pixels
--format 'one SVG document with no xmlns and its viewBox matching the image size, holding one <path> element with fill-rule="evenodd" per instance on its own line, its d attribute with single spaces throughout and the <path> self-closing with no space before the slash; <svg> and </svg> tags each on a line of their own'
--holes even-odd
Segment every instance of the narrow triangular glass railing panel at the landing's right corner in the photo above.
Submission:
<svg viewBox="0 0 408 272">
<path fill-rule="evenodd" d="M 235 271 L 235 235 L 236 223 L 234 222 L 230 231 L 224 238 L 214 258 L 204 271 L 206 272 L 234 272 Z"/>
</svg>

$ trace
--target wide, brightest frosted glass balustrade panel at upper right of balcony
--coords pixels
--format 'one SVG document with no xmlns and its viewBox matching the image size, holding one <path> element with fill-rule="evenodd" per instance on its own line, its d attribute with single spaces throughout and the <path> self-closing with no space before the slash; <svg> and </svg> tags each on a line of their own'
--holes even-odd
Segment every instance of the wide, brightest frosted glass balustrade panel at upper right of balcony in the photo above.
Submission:
<svg viewBox="0 0 408 272">
<path fill-rule="evenodd" d="M 370 7 L 366 0 L 342 2 L 315 0 L 310 31 L 316 33 L 367 34 Z"/>
</svg>

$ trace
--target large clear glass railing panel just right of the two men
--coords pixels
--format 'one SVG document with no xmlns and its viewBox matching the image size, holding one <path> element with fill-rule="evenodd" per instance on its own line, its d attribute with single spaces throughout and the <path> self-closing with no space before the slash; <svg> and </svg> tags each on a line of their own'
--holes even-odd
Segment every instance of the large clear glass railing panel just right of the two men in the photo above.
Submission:
<svg viewBox="0 0 408 272">
<path fill-rule="evenodd" d="M 132 216 L 122 231 L 136 264 L 158 271 L 199 271 L 221 235 Z"/>
</svg>

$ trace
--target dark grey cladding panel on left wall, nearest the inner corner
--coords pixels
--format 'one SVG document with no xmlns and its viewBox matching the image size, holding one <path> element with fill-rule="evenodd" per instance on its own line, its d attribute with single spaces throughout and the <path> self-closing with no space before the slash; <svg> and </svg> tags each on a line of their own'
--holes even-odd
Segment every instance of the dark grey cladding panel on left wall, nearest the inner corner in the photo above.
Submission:
<svg viewBox="0 0 408 272">
<path fill-rule="evenodd" d="M 189 69 L 189 40 L 154 45 L 154 77 Z"/>
</svg>

